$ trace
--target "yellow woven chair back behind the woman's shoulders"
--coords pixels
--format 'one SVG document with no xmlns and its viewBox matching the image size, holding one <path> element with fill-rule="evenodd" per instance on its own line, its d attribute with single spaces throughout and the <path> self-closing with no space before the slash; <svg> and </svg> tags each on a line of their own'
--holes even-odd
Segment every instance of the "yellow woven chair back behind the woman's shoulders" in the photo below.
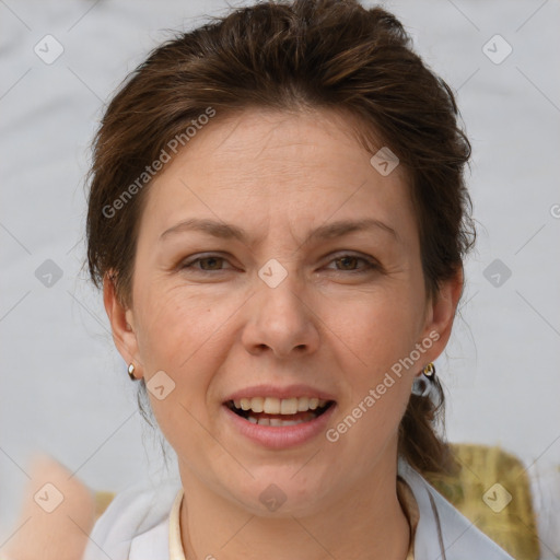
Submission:
<svg viewBox="0 0 560 560">
<path fill-rule="evenodd" d="M 530 487 L 521 460 L 500 447 L 460 443 L 451 444 L 451 450 L 458 471 L 454 476 L 425 475 L 427 480 L 513 558 L 538 560 Z M 114 495 L 95 493 L 96 518 Z"/>
</svg>

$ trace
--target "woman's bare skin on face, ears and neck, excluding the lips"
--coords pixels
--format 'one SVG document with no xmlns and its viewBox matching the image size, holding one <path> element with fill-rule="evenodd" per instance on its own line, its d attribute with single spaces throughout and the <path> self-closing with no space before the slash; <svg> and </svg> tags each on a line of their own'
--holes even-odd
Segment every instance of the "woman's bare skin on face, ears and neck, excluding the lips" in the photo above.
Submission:
<svg viewBox="0 0 560 560">
<path fill-rule="evenodd" d="M 147 383 L 160 371 L 175 383 L 162 400 L 149 395 L 178 456 L 187 558 L 406 557 L 397 430 L 415 375 L 445 348 L 463 277 L 428 299 L 404 170 L 382 176 L 370 158 L 349 119 L 331 113 L 218 115 L 145 194 L 130 305 L 105 280 L 122 358 Z M 236 224 L 248 241 L 161 238 L 192 217 Z M 315 228 L 359 218 L 396 236 L 377 228 L 304 243 Z M 219 259 L 182 268 L 208 254 Z M 377 266 L 338 260 L 346 254 Z M 288 272 L 276 288 L 258 276 L 271 258 Z M 433 331 L 418 364 L 335 443 L 322 433 L 266 448 L 224 415 L 222 402 L 244 387 L 305 383 L 335 396 L 336 427 Z M 270 483 L 287 497 L 276 512 L 259 501 Z"/>
</svg>

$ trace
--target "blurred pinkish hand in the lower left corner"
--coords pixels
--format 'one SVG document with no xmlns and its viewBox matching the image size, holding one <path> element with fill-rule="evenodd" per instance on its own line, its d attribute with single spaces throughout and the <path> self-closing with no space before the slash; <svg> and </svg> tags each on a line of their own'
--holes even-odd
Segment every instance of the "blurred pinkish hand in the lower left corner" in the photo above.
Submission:
<svg viewBox="0 0 560 560">
<path fill-rule="evenodd" d="M 0 548 L 0 559 L 81 560 L 95 518 L 93 493 L 48 455 L 34 457 L 30 476 L 8 535 L 15 533 Z"/>
</svg>

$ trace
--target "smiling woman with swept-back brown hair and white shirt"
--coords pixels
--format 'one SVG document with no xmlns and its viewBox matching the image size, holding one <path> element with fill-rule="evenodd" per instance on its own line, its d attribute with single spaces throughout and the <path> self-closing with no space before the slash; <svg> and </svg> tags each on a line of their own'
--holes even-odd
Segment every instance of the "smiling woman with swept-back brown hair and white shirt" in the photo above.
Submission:
<svg viewBox="0 0 560 560">
<path fill-rule="evenodd" d="M 88 255 L 180 485 L 117 495 L 85 560 L 510 558 L 422 477 L 453 468 L 469 154 L 380 8 L 258 4 L 151 54 L 96 138 Z"/>
</svg>

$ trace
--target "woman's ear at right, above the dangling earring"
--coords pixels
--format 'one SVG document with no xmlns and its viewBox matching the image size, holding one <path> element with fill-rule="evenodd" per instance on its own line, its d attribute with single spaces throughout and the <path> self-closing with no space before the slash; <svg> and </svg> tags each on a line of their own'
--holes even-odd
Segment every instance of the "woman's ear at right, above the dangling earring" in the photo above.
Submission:
<svg viewBox="0 0 560 560">
<path fill-rule="evenodd" d="M 422 340 L 429 337 L 434 342 L 424 354 L 425 363 L 433 362 L 447 346 L 457 304 L 463 293 L 463 267 L 459 266 L 455 275 L 442 282 L 435 296 L 427 303 Z"/>
</svg>

